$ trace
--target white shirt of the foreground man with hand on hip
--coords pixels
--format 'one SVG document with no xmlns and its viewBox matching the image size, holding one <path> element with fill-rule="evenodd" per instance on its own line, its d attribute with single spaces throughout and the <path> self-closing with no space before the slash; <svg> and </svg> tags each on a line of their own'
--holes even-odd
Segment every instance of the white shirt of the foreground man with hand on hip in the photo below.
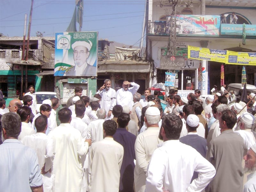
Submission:
<svg viewBox="0 0 256 192">
<path fill-rule="evenodd" d="M 198 178 L 190 180 L 194 171 Z M 145 192 L 202 191 L 216 171 L 213 165 L 196 151 L 179 140 L 168 140 L 157 148 L 148 165 Z"/>
</svg>

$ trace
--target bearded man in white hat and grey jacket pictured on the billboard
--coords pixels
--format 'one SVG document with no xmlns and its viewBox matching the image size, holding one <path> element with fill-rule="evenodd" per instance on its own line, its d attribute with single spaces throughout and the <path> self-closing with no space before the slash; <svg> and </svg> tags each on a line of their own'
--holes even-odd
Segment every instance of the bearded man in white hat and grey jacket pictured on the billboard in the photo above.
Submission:
<svg viewBox="0 0 256 192">
<path fill-rule="evenodd" d="M 88 41 L 88 42 L 87 42 Z M 90 55 L 92 48 L 92 42 L 87 41 L 76 41 L 71 45 L 74 57 L 75 66 L 70 68 L 66 76 L 95 76 L 96 67 L 88 64 L 87 59 Z"/>
</svg>

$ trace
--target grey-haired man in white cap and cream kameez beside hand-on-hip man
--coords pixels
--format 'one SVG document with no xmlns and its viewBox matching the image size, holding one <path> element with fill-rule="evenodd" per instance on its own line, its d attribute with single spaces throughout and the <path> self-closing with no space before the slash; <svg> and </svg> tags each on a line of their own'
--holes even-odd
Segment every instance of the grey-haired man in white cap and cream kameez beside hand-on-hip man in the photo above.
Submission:
<svg viewBox="0 0 256 192">
<path fill-rule="evenodd" d="M 148 163 L 157 145 L 162 143 L 158 138 L 159 120 L 161 114 L 158 108 L 148 107 L 145 112 L 146 131 L 140 133 L 135 141 L 136 164 L 134 168 L 134 189 L 135 192 L 145 191 L 146 172 Z"/>
</svg>

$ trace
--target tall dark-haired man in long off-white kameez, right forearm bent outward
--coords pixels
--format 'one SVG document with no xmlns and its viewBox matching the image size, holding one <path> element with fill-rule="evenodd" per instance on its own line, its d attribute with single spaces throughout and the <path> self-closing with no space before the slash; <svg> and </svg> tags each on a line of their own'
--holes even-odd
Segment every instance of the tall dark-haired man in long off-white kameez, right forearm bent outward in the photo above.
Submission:
<svg viewBox="0 0 256 192">
<path fill-rule="evenodd" d="M 81 133 L 70 125 L 71 110 L 62 108 L 58 112 L 60 126 L 49 133 L 53 139 L 54 192 L 82 190 L 83 167 L 80 156 L 84 156 L 91 140 L 84 140 Z"/>
</svg>

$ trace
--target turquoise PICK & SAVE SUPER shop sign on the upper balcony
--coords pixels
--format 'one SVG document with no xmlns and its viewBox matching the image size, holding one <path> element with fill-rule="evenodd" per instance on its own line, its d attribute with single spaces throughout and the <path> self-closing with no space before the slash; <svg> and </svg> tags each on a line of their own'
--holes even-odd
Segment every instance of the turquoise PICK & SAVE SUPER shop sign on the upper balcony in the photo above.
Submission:
<svg viewBox="0 0 256 192">
<path fill-rule="evenodd" d="M 243 24 L 221 24 L 221 35 L 243 35 Z M 256 36 L 256 25 L 245 25 L 245 35 Z"/>
</svg>

